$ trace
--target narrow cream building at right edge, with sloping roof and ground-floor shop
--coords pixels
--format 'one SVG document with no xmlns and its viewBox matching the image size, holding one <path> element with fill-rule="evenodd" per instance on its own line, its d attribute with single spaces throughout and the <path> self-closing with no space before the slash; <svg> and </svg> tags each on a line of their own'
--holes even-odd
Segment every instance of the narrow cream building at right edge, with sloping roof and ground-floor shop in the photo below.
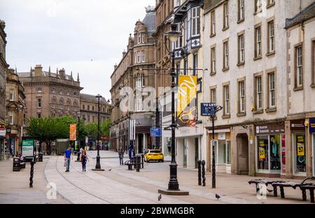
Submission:
<svg viewBox="0 0 315 218">
<path fill-rule="evenodd" d="M 315 175 L 315 3 L 286 20 L 286 175 Z"/>
</svg>

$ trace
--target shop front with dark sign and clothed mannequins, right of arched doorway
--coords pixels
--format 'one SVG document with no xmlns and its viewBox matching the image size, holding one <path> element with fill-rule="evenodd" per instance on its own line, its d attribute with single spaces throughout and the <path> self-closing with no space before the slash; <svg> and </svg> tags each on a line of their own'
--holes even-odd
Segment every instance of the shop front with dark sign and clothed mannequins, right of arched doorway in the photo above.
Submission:
<svg viewBox="0 0 315 218">
<path fill-rule="evenodd" d="M 286 173 L 286 136 L 284 123 L 256 125 L 256 172 L 272 177 Z"/>
</svg>

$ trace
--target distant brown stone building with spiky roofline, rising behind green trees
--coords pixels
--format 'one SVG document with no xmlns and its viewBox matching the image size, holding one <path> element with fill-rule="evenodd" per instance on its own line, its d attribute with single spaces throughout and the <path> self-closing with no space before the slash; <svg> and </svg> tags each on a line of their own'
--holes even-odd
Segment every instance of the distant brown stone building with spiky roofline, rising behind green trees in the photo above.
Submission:
<svg viewBox="0 0 315 218">
<path fill-rule="evenodd" d="M 76 81 L 71 75 L 67 75 L 65 69 L 56 73 L 43 71 L 41 65 L 36 65 L 29 72 L 18 73 L 20 81 L 25 87 L 26 117 L 77 117 L 80 111 L 80 87 L 79 76 Z"/>
</svg>

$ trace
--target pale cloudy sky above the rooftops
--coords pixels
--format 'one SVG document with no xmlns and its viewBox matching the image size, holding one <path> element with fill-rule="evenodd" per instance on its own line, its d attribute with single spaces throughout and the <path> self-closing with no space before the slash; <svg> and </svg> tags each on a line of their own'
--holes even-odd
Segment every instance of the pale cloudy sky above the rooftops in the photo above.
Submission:
<svg viewBox="0 0 315 218">
<path fill-rule="evenodd" d="M 36 64 L 80 74 L 83 93 L 110 98 L 110 76 L 137 20 L 155 0 L 0 0 L 6 61 L 18 72 Z"/>
</svg>

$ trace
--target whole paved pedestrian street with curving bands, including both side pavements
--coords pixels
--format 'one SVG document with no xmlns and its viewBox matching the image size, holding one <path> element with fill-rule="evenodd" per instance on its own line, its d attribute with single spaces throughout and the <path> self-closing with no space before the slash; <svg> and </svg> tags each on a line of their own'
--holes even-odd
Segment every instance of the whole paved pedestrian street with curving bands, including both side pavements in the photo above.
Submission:
<svg viewBox="0 0 315 218">
<path fill-rule="evenodd" d="M 207 173 L 209 185 L 198 186 L 197 170 L 179 169 L 182 189 L 189 196 L 162 196 L 158 189 L 166 189 L 169 162 L 144 163 L 140 172 L 129 171 L 119 165 L 118 154 L 100 151 L 104 172 L 94 172 L 97 151 L 88 151 L 90 163 L 82 172 L 80 163 L 71 162 L 70 172 L 64 172 L 63 156 L 47 156 L 35 164 L 34 187 L 29 189 L 29 165 L 25 170 L 12 172 L 10 161 L 0 162 L 0 203 L 83 203 L 83 204 L 261 204 L 302 203 L 299 190 L 287 190 L 286 199 L 267 193 L 259 198 L 254 186 L 248 184 L 254 177 L 217 174 L 216 190 L 211 189 L 211 173 Z M 13 181 L 18 181 L 13 183 Z M 291 180 L 294 181 L 294 180 Z M 297 182 L 297 181 L 296 181 Z M 55 186 L 53 186 L 55 185 Z M 57 191 L 55 198 L 53 187 Z M 216 194 L 221 196 L 216 199 Z M 31 198 L 31 200 L 29 200 Z"/>
</svg>

